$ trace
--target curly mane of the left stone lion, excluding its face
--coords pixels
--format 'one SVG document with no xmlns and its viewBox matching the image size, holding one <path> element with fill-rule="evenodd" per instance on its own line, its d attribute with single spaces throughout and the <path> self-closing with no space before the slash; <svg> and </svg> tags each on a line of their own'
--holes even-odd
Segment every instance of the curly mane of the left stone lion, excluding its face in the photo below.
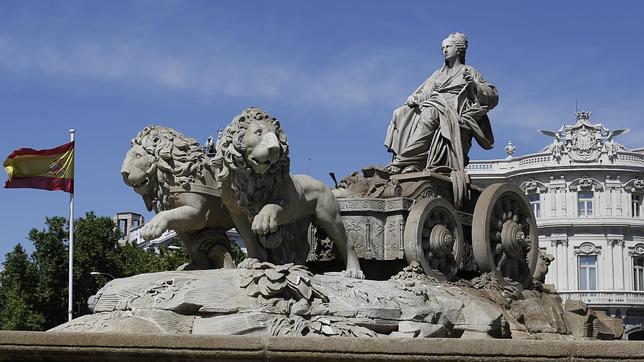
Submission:
<svg viewBox="0 0 644 362">
<path fill-rule="evenodd" d="M 204 172 L 210 169 L 204 150 L 193 138 L 161 126 L 147 126 L 132 139 L 141 146 L 156 165 L 154 190 L 144 197 L 146 207 L 155 212 L 168 210 L 176 193 L 190 184 L 205 185 Z"/>
</svg>

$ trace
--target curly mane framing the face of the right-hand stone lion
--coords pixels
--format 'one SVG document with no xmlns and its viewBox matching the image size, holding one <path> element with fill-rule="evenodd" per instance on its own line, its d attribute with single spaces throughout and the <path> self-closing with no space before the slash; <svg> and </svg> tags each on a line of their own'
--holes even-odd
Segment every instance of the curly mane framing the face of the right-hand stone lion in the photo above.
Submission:
<svg viewBox="0 0 644 362">
<path fill-rule="evenodd" d="M 264 175 L 255 173 L 245 159 L 247 147 L 244 133 L 252 122 L 271 124 L 280 143 L 280 159 Z M 259 108 L 248 108 L 236 116 L 222 132 L 213 164 L 218 170 L 217 179 L 230 184 L 232 195 L 249 219 L 252 219 L 269 201 L 276 185 L 289 177 L 290 159 L 286 134 L 275 117 Z"/>
</svg>

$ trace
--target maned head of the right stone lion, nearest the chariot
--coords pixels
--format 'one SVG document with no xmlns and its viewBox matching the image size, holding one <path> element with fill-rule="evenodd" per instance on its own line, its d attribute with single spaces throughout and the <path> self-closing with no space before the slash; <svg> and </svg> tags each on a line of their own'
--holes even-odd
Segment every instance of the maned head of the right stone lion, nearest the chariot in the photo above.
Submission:
<svg viewBox="0 0 644 362">
<path fill-rule="evenodd" d="M 249 217 L 256 215 L 289 175 L 288 144 L 279 121 L 259 108 L 246 109 L 222 132 L 213 164 L 239 206 Z"/>
</svg>

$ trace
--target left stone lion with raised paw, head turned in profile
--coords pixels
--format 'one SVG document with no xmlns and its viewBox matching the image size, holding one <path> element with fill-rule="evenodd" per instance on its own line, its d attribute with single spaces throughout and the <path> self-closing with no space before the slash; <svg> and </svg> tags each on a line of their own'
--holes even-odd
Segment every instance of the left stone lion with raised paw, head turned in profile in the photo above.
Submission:
<svg viewBox="0 0 644 362">
<path fill-rule="evenodd" d="M 210 160 L 197 141 L 172 128 L 148 126 L 132 140 L 121 174 L 156 215 L 141 228 L 151 240 L 175 230 L 188 249 L 183 269 L 232 267 L 226 230 L 233 222 L 222 205 Z"/>
</svg>

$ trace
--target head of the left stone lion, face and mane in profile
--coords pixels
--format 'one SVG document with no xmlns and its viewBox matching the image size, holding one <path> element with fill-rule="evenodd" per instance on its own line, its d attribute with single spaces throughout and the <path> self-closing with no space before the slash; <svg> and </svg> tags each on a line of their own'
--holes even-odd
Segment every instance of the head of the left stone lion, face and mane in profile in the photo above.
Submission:
<svg viewBox="0 0 644 362">
<path fill-rule="evenodd" d="M 197 141 L 172 128 L 147 126 L 125 155 L 121 174 L 126 185 L 143 196 L 148 211 L 171 208 L 171 188 L 205 184 L 208 159 Z"/>
</svg>

